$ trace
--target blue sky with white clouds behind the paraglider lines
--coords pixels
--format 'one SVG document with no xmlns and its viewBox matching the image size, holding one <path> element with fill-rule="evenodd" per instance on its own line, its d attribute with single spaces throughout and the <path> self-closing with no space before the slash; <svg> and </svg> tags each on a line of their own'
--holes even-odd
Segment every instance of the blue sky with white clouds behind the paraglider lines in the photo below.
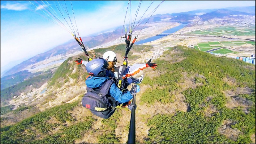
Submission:
<svg viewBox="0 0 256 144">
<path fill-rule="evenodd" d="M 46 52 L 71 39 L 72 35 L 42 12 L 42 1 L 0 1 L 1 2 L 1 73 L 24 60 Z M 49 8 L 57 11 L 55 4 L 65 3 L 73 18 L 80 36 L 87 36 L 104 29 L 123 26 L 128 1 L 43 1 Z M 132 1 L 135 14 L 140 1 Z M 152 1 L 142 1 L 142 15 Z M 154 1 L 149 14 L 162 1 Z M 33 4 L 35 5 L 33 5 Z M 197 9 L 219 9 L 234 6 L 255 6 L 255 1 L 164 1 L 154 12 L 166 14 L 187 12 Z M 60 7 L 59 7 L 60 8 Z M 60 13 L 59 13 L 60 14 Z M 61 17 L 61 15 L 60 15 Z M 67 18 L 67 16 L 65 16 Z M 52 20 L 52 21 L 51 21 Z M 64 20 L 63 20 L 64 21 Z M 74 19 L 72 20 L 74 22 Z M 120 34 L 121 35 L 121 34 Z"/>
</svg>

